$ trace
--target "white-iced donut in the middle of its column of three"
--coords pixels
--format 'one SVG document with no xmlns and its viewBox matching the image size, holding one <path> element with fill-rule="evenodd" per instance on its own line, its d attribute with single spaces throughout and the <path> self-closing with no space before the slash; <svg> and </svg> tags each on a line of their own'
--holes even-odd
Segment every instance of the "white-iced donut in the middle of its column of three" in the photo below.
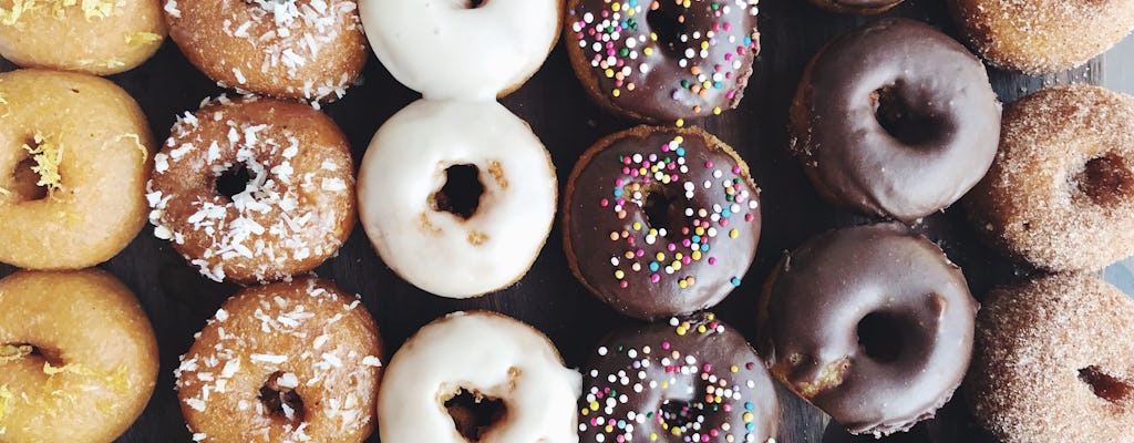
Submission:
<svg viewBox="0 0 1134 443">
<path fill-rule="evenodd" d="M 409 104 L 374 134 L 358 177 L 363 228 L 382 261 L 443 297 L 518 281 L 555 219 L 548 151 L 496 102 Z"/>
</svg>

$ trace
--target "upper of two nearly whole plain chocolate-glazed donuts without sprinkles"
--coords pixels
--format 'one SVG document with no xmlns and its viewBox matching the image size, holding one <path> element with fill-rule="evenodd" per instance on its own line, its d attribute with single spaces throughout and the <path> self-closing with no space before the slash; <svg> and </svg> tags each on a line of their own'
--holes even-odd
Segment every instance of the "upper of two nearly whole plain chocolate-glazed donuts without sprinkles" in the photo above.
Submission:
<svg viewBox="0 0 1134 443">
<path fill-rule="evenodd" d="M 827 201 L 913 222 L 960 198 L 996 155 L 1000 104 L 973 54 L 882 19 L 828 43 L 796 90 L 789 145 Z"/>
</svg>

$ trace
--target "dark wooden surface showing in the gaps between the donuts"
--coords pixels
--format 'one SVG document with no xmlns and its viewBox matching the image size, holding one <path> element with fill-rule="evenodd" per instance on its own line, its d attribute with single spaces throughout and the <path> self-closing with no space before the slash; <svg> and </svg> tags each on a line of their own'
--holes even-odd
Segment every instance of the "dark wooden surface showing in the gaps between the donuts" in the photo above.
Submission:
<svg viewBox="0 0 1134 443">
<path fill-rule="evenodd" d="M 940 1 L 909 0 L 883 16 L 916 18 L 957 35 Z M 765 224 L 756 261 L 744 279 L 744 286 L 714 309 L 750 339 L 755 333 L 759 290 L 780 254 L 823 230 L 868 220 L 819 201 L 802 170 L 787 153 L 786 126 L 792 95 L 811 56 L 832 36 L 872 19 L 822 12 L 803 0 L 767 0 L 760 17 L 763 50 L 741 108 L 691 122 L 705 127 L 731 144 L 752 165 L 763 190 Z M 10 70 L 14 66 L 3 62 L 2 68 Z M 1043 78 L 995 69 L 990 74 L 993 87 L 1001 101 L 1007 103 L 1042 86 L 1068 82 L 1097 83 L 1099 71 L 1097 65 L 1089 65 L 1069 74 Z M 365 83 L 350 88 L 345 100 L 324 107 L 348 135 L 356 160 L 362 157 L 379 126 L 418 96 L 395 82 L 373 57 L 364 76 Z M 176 114 L 195 110 L 202 99 L 222 92 L 193 68 L 171 42 L 166 42 L 158 56 L 144 66 L 111 78 L 137 99 L 159 140 L 169 135 Z M 531 123 L 551 152 L 558 168 L 560 190 L 574 161 L 591 143 L 634 125 L 610 118 L 586 101 L 561 43 L 539 74 L 502 102 Z M 919 229 L 938 241 L 962 265 L 978 298 L 990 286 L 1026 273 L 1026 270 L 1005 263 L 975 241 L 959 208 L 930 216 Z M 161 373 L 153 399 L 142 418 L 119 441 L 189 441 L 174 391 L 172 372 L 178 365 L 178 355 L 192 343 L 193 334 L 238 287 L 213 283 L 198 275 L 166 241 L 154 238 L 149 225 L 126 250 L 100 267 L 112 272 L 138 295 L 161 347 Z M 14 271 L 10 266 L 0 265 L 0 275 Z M 321 266 L 318 274 L 362 295 L 390 352 L 438 316 L 452 310 L 483 308 L 506 313 L 540 329 L 558 346 L 568 366 L 577 367 L 601 335 L 617 325 L 632 322 L 599 303 L 570 275 L 558 224 L 527 276 L 505 291 L 479 299 L 445 299 L 405 283 L 378 258 L 361 227 L 355 229 L 339 256 Z M 780 391 L 780 442 L 873 440 L 850 438 L 837 425 L 828 426 L 826 416 L 787 391 Z M 373 436 L 370 441 L 376 442 L 378 437 Z M 963 402 L 955 399 L 942 409 L 938 419 L 886 441 L 945 443 L 992 440 L 971 423 Z"/>
</svg>

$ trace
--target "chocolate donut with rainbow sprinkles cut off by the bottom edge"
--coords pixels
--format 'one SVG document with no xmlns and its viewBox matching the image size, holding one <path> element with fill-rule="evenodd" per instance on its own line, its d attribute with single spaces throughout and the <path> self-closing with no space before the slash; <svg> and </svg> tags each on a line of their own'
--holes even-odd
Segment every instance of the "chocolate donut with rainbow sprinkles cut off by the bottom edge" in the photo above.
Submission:
<svg viewBox="0 0 1134 443">
<path fill-rule="evenodd" d="M 776 442 L 772 378 L 711 313 L 611 332 L 586 368 L 582 442 Z"/>
</svg>

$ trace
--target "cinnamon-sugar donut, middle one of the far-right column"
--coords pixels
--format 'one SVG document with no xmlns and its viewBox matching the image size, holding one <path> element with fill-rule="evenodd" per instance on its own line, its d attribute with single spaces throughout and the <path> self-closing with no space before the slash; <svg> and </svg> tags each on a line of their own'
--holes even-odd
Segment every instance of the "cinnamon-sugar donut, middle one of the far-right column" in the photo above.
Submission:
<svg viewBox="0 0 1134 443">
<path fill-rule="evenodd" d="M 1004 119 L 1000 153 L 966 198 L 976 229 L 1051 271 L 1134 254 L 1134 97 L 1060 86 L 1013 103 Z"/>
</svg>

